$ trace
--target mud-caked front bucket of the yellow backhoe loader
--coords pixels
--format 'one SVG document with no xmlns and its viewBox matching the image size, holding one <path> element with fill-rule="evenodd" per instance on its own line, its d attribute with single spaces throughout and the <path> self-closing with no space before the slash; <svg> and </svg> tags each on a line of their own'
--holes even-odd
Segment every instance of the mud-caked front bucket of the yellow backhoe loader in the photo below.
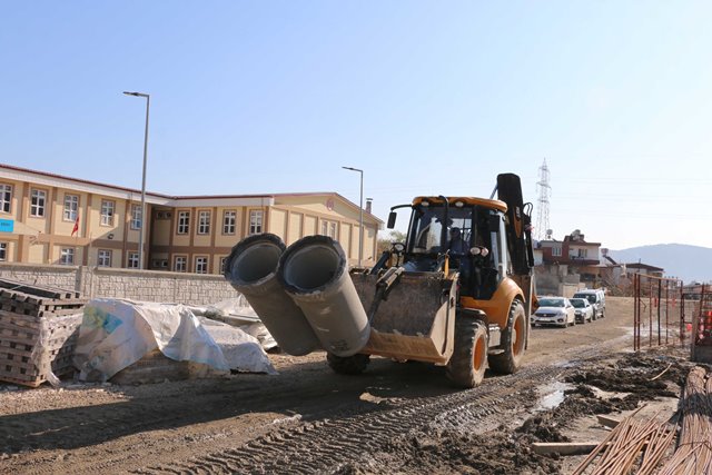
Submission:
<svg viewBox="0 0 712 475">
<path fill-rule="evenodd" d="M 378 276 L 352 274 L 365 309 L 374 308 Z M 453 353 L 457 275 L 404 273 L 377 304 L 360 353 L 446 364 Z"/>
</svg>

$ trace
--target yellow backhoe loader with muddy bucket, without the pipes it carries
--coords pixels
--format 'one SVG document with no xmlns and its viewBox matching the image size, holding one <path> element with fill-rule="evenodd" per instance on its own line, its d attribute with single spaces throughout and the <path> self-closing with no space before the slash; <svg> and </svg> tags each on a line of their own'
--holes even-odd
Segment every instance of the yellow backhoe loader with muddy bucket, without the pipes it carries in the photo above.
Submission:
<svg viewBox="0 0 712 475">
<path fill-rule="evenodd" d="M 327 353 L 334 370 L 358 374 L 379 355 L 446 365 L 456 385 L 473 387 L 487 366 L 521 367 L 535 299 L 532 206 L 516 175 L 500 175 L 495 191 L 498 199 L 417 197 L 392 208 L 388 228 L 397 209 L 411 209 L 406 241 L 352 270 L 370 336 L 358 354 Z"/>
</svg>

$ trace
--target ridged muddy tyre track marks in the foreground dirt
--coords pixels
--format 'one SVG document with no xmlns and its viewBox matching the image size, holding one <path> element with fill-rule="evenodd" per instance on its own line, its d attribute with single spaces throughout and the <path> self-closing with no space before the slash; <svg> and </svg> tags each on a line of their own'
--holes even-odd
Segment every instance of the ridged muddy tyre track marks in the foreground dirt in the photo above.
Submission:
<svg viewBox="0 0 712 475">
<path fill-rule="evenodd" d="M 488 378 L 469 390 L 417 398 L 397 408 L 283 428 L 234 449 L 212 453 L 137 473 L 333 473 L 377 452 L 388 441 L 427 427 L 462 428 L 483 419 L 511 417 L 531 405 L 531 388 L 553 380 L 562 368 L 526 368 Z"/>
</svg>

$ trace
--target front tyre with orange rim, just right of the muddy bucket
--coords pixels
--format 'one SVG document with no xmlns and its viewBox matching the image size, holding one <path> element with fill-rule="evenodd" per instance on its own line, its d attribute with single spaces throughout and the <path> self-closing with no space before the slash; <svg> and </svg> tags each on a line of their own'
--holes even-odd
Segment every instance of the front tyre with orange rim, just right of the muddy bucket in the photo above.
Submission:
<svg viewBox="0 0 712 475">
<path fill-rule="evenodd" d="M 447 362 L 447 377 L 458 387 L 475 387 L 487 369 L 487 327 L 481 320 L 458 316 L 455 348 Z"/>
</svg>

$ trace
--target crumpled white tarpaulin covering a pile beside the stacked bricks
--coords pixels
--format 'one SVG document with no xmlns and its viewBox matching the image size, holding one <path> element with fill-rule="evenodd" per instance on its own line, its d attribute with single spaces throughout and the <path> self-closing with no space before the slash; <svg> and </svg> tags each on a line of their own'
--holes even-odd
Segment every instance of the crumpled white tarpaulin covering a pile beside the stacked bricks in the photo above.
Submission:
<svg viewBox="0 0 712 475">
<path fill-rule="evenodd" d="M 229 330 L 241 335 L 219 330 L 218 339 L 224 340 L 229 353 L 227 358 L 207 327 L 186 306 L 97 298 L 85 307 L 75 364 L 80 379 L 107 380 L 158 348 L 168 358 L 219 370 L 275 373 L 253 337 L 236 328 Z"/>
</svg>

